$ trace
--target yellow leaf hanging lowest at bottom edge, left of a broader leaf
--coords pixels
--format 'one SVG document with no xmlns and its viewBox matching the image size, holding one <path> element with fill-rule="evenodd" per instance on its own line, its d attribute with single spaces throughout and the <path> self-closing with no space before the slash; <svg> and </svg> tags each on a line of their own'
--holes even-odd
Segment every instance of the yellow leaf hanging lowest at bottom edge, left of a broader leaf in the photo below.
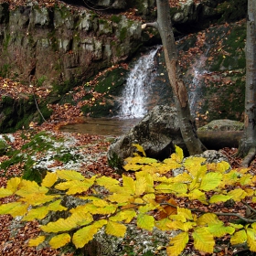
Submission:
<svg viewBox="0 0 256 256">
<path fill-rule="evenodd" d="M 188 233 L 182 232 L 170 240 L 171 246 L 166 248 L 168 256 L 178 256 L 186 247 L 188 242 Z"/>
</svg>

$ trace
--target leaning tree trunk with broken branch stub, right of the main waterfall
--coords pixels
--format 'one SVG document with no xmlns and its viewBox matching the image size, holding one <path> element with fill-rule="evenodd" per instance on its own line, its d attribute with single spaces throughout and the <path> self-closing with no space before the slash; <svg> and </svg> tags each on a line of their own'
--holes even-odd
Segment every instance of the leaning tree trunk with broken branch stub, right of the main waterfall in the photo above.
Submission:
<svg viewBox="0 0 256 256">
<path fill-rule="evenodd" d="M 195 121 L 190 114 L 187 88 L 181 78 L 182 75 L 177 59 L 176 42 L 172 30 L 169 1 L 157 0 L 156 4 L 157 21 L 155 23 L 146 24 L 145 26 L 155 27 L 160 33 L 165 53 L 165 65 L 174 92 L 177 117 L 182 137 L 187 145 L 187 150 L 190 155 L 200 154 L 206 148 L 197 137 Z"/>
</svg>

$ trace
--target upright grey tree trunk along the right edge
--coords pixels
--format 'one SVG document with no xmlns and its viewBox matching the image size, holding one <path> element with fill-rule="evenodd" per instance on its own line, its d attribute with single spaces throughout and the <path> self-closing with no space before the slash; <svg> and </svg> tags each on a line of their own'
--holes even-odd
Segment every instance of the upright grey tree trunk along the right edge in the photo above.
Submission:
<svg viewBox="0 0 256 256">
<path fill-rule="evenodd" d="M 240 141 L 239 155 L 247 155 L 242 165 L 249 165 L 256 153 L 256 1 L 248 1 L 246 38 L 246 89 L 244 135 Z"/>
</svg>

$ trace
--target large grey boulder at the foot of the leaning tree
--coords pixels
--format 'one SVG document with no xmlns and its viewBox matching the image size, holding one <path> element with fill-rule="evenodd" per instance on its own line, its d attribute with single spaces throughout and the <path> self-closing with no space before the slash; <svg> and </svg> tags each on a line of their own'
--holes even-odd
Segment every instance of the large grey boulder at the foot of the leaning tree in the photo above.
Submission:
<svg viewBox="0 0 256 256">
<path fill-rule="evenodd" d="M 176 108 L 155 106 L 152 112 L 135 125 L 128 133 L 119 137 L 108 151 L 110 165 L 123 165 L 123 159 L 135 152 L 133 144 L 143 146 L 148 157 L 165 159 L 171 154 L 175 145 L 185 149 L 176 115 Z"/>
</svg>

